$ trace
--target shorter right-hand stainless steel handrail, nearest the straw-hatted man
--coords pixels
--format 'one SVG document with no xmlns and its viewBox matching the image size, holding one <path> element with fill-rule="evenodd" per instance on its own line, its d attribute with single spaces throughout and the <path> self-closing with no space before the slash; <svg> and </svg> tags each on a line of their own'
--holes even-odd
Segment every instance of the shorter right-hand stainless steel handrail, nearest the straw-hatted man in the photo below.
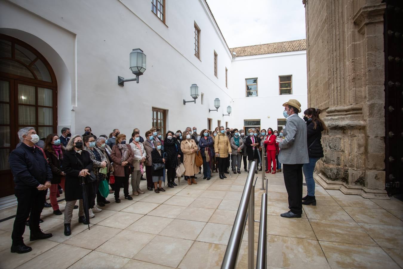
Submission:
<svg viewBox="0 0 403 269">
<path fill-rule="evenodd" d="M 262 194 L 262 206 L 260 208 L 260 226 L 258 241 L 258 257 L 256 269 L 266 268 L 267 265 L 267 194 Z"/>
</svg>

